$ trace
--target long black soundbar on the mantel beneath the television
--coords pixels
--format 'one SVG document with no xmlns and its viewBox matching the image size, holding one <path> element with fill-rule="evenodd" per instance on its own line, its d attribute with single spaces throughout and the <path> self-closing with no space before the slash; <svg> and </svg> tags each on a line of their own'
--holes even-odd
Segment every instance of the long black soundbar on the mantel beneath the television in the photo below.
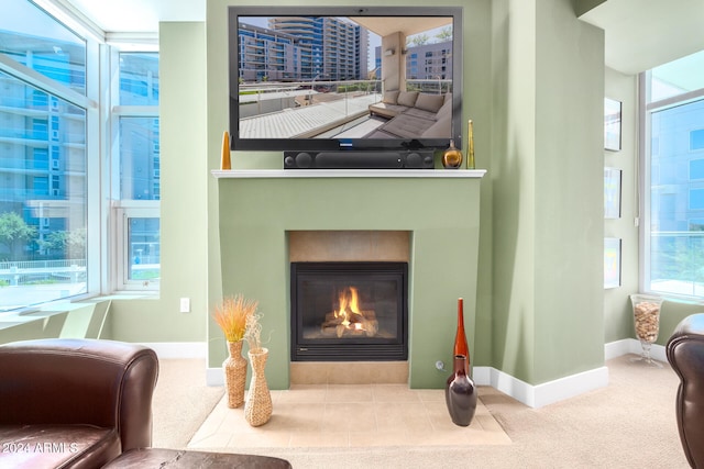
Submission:
<svg viewBox="0 0 704 469">
<path fill-rule="evenodd" d="M 433 152 L 284 152 L 284 169 L 432 169 Z"/>
</svg>

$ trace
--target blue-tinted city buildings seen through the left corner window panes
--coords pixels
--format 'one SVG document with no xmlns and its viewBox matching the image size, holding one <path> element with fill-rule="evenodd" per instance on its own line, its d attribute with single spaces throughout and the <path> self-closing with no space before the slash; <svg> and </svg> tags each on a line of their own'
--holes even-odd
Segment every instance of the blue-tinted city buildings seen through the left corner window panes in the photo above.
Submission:
<svg viewBox="0 0 704 469">
<path fill-rule="evenodd" d="M 99 136 L 88 132 L 99 104 L 87 96 L 88 67 L 98 69 L 98 60 L 33 3 L 8 1 L 0 15 L 0 311 L 88 292 L 89 208 L 100 200 L 99 185 L 89 193 L 100 168 L 90 138 L 98 148 Z M 122 103 L 156 105 L 158 55 L 135 54 L 120 67 Z M 154 109 L 153 116 L 121 116 L 118 198 L 160 199 Z M 141 275 L 158 277 L 158 216 L 131 227 L 132 263 L 155 266 Z"/>
</svg>

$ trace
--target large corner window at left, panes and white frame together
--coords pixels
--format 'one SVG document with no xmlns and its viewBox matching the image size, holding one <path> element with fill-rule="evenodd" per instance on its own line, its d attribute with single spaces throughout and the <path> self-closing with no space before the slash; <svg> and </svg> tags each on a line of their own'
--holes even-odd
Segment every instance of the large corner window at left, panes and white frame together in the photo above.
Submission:
<svg viewBox="0 0 704 469">
<path fill-rule="evenodd" d="M 158 288 L 158 53 L 70 21 L 3 0 L 0 312 Z"/>
</svg>

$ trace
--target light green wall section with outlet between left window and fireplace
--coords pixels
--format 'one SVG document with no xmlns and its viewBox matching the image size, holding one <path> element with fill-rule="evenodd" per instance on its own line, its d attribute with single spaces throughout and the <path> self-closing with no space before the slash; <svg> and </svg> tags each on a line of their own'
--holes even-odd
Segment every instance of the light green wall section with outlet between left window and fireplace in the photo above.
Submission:
<svg viewBox="0 0 704 469">
<path fill-rule="evenodd" d="M 161 24 L 161 290 L 155 299 L 113 300 L 116 339 L 206 340 L 210 174 L 205 30 L 204 23 Z M 190 313 L 179 312 L 180 298 L 190 298 Z"/>
</svg>

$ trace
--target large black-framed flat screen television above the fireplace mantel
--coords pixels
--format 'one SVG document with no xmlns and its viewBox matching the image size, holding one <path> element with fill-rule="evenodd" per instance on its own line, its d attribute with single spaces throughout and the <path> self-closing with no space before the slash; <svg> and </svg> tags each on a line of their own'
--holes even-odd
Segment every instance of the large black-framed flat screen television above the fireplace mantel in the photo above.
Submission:
<svg viewBox="0 0 704 469">
<path fill-rule="evenodd" d="M 237 150 L 462 145 L 462 9 L 230 7 Z"/>
</svg>

